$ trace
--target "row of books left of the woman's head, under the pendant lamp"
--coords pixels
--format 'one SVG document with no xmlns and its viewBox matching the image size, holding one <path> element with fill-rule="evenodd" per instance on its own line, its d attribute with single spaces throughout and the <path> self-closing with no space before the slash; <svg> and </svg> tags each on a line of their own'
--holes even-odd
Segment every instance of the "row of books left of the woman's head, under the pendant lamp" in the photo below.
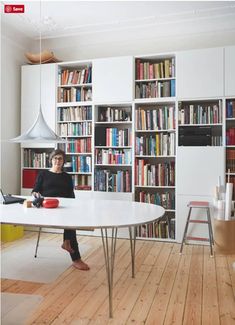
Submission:
<svg viewBox="0 0 235 325">
<path fill-rule="evenodd" d="M 49 153 L 36 152 L 31 149 L 24 149 L 23 152 L 23 166 L 34 168 L 49 168 Z"/>
</svg>

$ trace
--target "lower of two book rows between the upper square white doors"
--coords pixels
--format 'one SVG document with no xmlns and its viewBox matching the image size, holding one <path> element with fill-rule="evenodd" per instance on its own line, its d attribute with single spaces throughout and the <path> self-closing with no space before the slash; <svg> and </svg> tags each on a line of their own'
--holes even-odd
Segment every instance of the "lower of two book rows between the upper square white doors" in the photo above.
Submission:
<svg viewBox="0 0 235 325">
<path fill-rule="evenodd" d="M 175 96 L 175 79 L 146 82 L 135 85 L 135 98 L 161 98 Z"/>
</svg>

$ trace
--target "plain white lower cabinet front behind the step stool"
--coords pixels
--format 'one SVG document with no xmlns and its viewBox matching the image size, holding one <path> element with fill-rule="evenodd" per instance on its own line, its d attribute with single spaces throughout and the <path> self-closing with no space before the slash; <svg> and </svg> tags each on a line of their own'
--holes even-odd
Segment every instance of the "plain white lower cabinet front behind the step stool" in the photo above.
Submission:
<svg viewBox="0 0 235 325">
<path fill-rule="evenodd" d="M 177 200 L 176 200 L 176 240 L 182 241 L 190 201 L 213 202 L 218 177 L 223 179 L 223 147 L 178 147 L 177 152 Z M 205 219 L 202 210 L 194 209 L 193 219 Z M 213 216 L 213 214 L 212 214 Z M 208 227 L 204 224 L 190 225 L 188 234 L 208 237 Z"/>
</svg>

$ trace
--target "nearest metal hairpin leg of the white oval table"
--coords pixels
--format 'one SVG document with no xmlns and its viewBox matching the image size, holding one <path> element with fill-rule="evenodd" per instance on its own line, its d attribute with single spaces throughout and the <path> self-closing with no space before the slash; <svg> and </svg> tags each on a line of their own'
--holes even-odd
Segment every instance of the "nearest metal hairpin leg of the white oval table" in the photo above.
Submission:
<svg viewBox="0 0 235 325">
<path fill-rule="evenodd" d="M 106 273 L 108 279 L 108 291 L 109 291 L 109 317 L 113 317 L 113 269 L 116 251 L 117 241 L 117 228 L 114 227 L 111 230 L 111 237 L 108 239 L 108 230 L 101 228 L 102 243 L 104 249 L 104 259 L 106 266 Z M 111 243 L 110 243 L 110 242 Z"/>
</svg>

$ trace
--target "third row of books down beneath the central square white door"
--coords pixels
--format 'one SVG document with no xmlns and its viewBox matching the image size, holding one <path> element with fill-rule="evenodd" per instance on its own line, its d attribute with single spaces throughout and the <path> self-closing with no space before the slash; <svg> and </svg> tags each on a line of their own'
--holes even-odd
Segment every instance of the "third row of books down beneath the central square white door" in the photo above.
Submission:
<svg viewBox="0 0 235 325">
<path fill-rule="evenodd" d="M 96 164 L 130 165 L 130 149 L 95 149 Z"/>
</svg>

